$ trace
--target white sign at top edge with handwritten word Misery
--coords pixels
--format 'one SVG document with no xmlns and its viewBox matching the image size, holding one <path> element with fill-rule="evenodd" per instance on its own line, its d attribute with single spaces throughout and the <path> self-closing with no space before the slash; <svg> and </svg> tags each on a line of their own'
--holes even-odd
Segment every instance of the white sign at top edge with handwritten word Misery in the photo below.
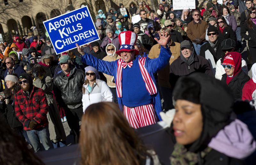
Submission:
<svg viewBox="0 0 256 165">
<path fill-rule="evenodd" d="M 173 0 L 173 10 L 196 9 L 196 0 Z"/>
</svg>

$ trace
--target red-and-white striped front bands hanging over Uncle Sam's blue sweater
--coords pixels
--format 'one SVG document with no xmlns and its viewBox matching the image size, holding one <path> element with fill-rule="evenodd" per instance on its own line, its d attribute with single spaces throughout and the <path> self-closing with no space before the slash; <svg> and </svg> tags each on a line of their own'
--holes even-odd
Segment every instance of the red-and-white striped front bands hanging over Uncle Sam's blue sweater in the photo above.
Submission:
<svg viewBox="0 0 256 165">
<path fill-rule="evenodd" d="M 124 60 L 121 58 L 117 62 L 118 67 L 117 67 L 117 73 L 116 73 L 116 93 L 117 93 L 117 97 L 119 98 L 123 97 L 122 95 L 122 87 L 123 87 L 122 86 L 122 69 L 123 69 L 122 63 L 123 62 Z M 157 93 L 157 88 L 154 81 L 152 80 L 148 71 L 145 68 L 145 62 L 146 62 L 146 57 L 139 58 L 139 65 L 140 65 L 142 78 L 146 84 L 148 93 L 150 95 L 153 95 Z"/>
</svg>

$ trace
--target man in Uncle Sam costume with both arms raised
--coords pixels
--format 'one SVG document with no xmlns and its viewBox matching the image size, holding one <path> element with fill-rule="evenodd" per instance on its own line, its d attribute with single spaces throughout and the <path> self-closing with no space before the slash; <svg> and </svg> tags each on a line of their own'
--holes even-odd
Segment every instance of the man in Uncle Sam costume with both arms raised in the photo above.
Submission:
<svg viewBox="0 0 256 165">
<path fill-rule="evenodd" d="M 159 32 L 158 32 L 159 33 Z M 131 31 L 121 32 L 118 36 L 120 50 L 116 54 L 122 57 L 116 61 L 103 61 L 87 54 L 78 44 L 77 50 L 83 55 L 82 62 L 98 71 L 115 77 L 116 95 L 120 108 L 124 105 L 124 115 L 133 128 L 155 124 L 162 120 L 159 92 L 156 88 L 154 73 L 163 69 L 172 55 L 167 44 L 170 36 L 161 36 L 155 40 L 161 45 L 159 57 L 135 57 L 139 51 L 134 49 L 138 35 Z"/>
</svg>

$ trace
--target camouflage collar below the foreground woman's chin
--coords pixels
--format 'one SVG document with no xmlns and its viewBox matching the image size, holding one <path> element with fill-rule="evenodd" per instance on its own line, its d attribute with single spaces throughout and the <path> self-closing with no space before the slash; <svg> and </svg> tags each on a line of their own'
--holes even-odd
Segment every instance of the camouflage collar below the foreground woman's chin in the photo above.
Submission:
<svg viewBox="0 0 256 165">
<path fill-rule="evenodd" d="M 188 151 L 188 149 L 181 145 L 176 143 L 174 145 L 174 150 L 172 152 L 172 155 L 170 157 L 171 164 L 172 165 L 196 165 L 201 164 L 198 161 L 198 157 L 200 155 L 201 158 L 204 158 L 207 154 L 209 154 L 212 151 L 212 148 L 206 147 L 203 151 L 200 153 L 193 153 Z"/>
</svg>

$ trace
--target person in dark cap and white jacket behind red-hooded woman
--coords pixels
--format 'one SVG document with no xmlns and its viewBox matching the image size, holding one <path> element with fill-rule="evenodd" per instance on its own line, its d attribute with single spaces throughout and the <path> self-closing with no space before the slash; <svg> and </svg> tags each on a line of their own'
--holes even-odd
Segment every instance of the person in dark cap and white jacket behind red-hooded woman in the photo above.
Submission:
<svg viewBox="0 0 256 165">
<path fill-rule="evenodd" d="M 225 69 L 221 65 L 223 63 L 223 58 L 227 53 L 234 52 L 236 47 L 236 41 L 228 38 L 221 42 L 221 47 L 222 47 L 221 50 L 224 53 L 222 53 L 222 57 L 216 63 L 216 73 L 215 73 L 215 78 L 219 80 L 221 80 L 223 74 L 226 74 Z M 248 74 L 247 64 L 243 58 L 242 58 L 242 70 L 244 71 L 244 73 Z"/>
</svg>

